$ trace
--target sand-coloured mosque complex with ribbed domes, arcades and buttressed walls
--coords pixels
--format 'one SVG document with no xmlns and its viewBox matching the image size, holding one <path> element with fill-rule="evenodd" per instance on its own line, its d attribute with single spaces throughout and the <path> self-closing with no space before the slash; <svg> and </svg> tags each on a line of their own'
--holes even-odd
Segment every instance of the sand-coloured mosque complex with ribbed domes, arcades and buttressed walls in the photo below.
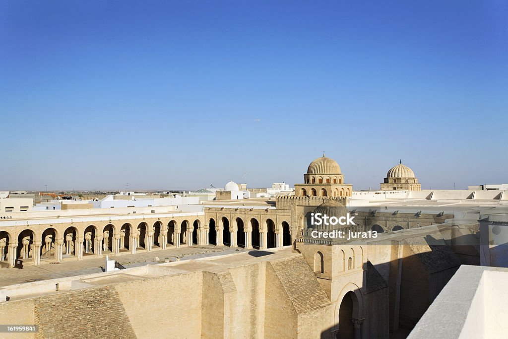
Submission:
<svg viewBox="0 0 508 339">
<path fill-rule="evenodd" d="M 392 196 L 421 190 L 401 162 L 381 188 L 400 191 L 386 192 Z M 503 193 L 488 191 L 478 199 L 467 193 L 473 198 L 456 205 L 426 192 L 374 201 L 383 196 L 375 191 L 355 207 L 348 204 L 353 185 L 325 155 L 309 164 L 294 195 L 245 199 L 245 193 L 231 181 L 214 201 L 176 208 L 10 214 L 12 220 L 0 221 L 5 267 L 20 259 L 120 261 L 122 254 L 192 246 L 238 253 L 4 286 L 0 318 L 28 319 L 45 333 L 41 338 L 66 337 L 69 328 L 79 329 L 73 337 L 389 338 L 416 325 L 461 264 L 480 264 L 478 220 L 487 212 L 478 206 L 508 206 Z M 422 204 L 427 196 L 432 206 Z M 354 227 L 337 229 L 377 237 L 316 239 L 312 231 L 327 230 L 309 223 L 316 213 L 353 215 Z M 55 291 L 55 284 L 67 290 Z"/>
</svg>

